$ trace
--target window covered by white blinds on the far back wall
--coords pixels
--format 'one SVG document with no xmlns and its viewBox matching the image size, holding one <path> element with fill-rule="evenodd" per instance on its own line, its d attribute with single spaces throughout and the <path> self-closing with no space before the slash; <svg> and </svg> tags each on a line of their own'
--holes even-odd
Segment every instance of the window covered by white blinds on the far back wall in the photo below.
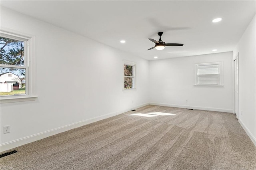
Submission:
<svg viewBox="0 0 256 170">
<path fill-rule="evenodd" d="M 223 85 L 222 62 L 195 64 L 195 85 Z"/>
</svg>

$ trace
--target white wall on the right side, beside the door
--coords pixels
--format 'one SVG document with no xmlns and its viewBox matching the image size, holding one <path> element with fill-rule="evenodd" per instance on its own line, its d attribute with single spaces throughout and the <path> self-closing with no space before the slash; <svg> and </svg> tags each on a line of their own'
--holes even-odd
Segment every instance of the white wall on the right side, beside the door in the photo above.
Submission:
<svg viewBox="0 0 256 170">
<path fill-rule="evenodd" d="M 256 16 L 242 35 L 239 53 L 239 122 L 256 145 Z"/>
</svg>

